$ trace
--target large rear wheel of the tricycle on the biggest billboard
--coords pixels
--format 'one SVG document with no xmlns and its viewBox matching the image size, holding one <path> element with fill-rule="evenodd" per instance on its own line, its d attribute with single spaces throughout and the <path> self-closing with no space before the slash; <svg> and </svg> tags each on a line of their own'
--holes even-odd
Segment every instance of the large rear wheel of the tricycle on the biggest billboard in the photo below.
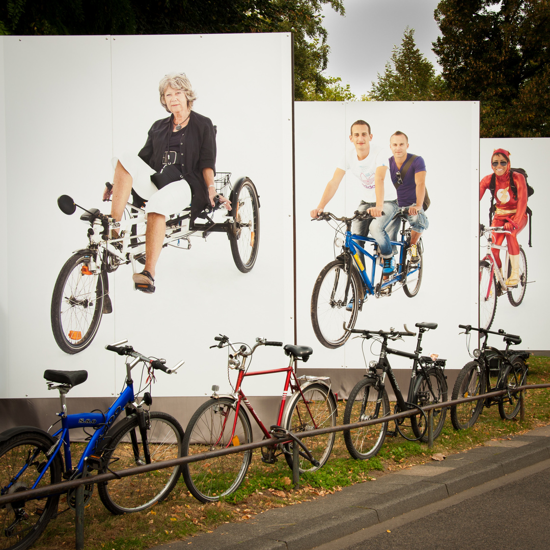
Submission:
<svg viewBox="0 0 550 550">
<path fill-rule="evenodd" d="M 260 200 L 252 180 L 243 178 L 235 185 L 231 208 L 235 220 L 227 233 L 231 254 L 237 269 L 248 273 L 256 263 L 260 246 Z"/>
</svg>

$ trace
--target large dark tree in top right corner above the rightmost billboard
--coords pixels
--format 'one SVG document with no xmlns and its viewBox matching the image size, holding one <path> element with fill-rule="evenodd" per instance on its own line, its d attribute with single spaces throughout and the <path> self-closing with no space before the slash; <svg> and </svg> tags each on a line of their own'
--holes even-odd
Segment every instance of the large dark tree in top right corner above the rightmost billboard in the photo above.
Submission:
<svg viewBox="0 0 550 550">
<path fill-rule="evenodd" d="M 442 0 L 434 17 L 445 92 L 481 102 L 481 137 L 549 136 L 548 0 Z"/>
</svg>

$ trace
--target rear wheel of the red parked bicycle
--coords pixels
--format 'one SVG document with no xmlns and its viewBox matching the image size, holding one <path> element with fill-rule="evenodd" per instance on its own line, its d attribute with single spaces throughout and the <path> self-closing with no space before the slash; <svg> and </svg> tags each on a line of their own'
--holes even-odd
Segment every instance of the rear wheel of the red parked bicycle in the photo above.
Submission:
<svg viewBox="0 0 550 550">
<path fill-rule="evenodd" d="M 330 390 L 324 384 L 313 383 L 302 389 L 304 399 L 300 392 L 294 393 L 288 402 L 285 413 L 284 427 L 293 433 L 303 433 L 316 428 L 327 428 L 336 425 L 336 405 Z M 332 392 L 331 392 L 332 393 Z M 300 454 L 300 473 L 314 472 L 326 464 L 331 455 L 335 433 L 324 433 L 315 437 L 306 437 L 302 440 L 307 449 L 319 465 L 313 465 L 305 455 Z M 293 467 L 293 443 L 284 445 L 284 458 L 288 466 Z"/>
</svg>

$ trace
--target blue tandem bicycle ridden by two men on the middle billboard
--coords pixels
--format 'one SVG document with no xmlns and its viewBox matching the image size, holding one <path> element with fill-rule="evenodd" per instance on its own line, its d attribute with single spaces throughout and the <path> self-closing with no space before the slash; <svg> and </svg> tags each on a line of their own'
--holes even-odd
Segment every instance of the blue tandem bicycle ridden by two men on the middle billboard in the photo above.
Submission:
<svg viewBox="0 0 550 550">
<path fill-rule="evenodd" d="M 335 227 L 334 245 L 341 247 L 341 252 L 323 267 L 311 295 L 311 324 L 317 339 L 326 348 L 339 348 L 345 343 L 368 296 L 389 296 L 394 287 L 403 287 L 409 298 L 418 293 L 422 282 L 422 239 L 417 243 L 420 260 L 412 263 L 409 248 L 411 229 L 405 227 L 406 210 L 399 208 L 395 214 L 401 223 L 400 240 L 391 241 L 397 247 L 395 270 L 387 279 L 381 274 L 377 283 L 376 264 L 382 264 L 382 258 L 377 254 L 376 240 L 351 233 L 351 224 L 356 219 L 368 219 L 370 215 L 355 211 L 351 218 L 337 218 L 331 212 L 322 212 L 317 218 L 340 222 Z M 365 246 L 373 245 L 372 254 L 357 241 L 365 241 Z M 365 263 L 370 260 L 370 265 L 364 265 L 359 252 L 364 255 Z"/>
</svg>

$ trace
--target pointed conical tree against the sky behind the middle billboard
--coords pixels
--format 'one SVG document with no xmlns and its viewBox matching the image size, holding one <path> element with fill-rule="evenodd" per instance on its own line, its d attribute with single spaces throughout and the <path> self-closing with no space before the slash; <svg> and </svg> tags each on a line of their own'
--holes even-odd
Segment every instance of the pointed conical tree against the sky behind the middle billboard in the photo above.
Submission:
<svg viewBox="0 0 550 550">
<path fill-rule="evenodd" d="M 401 45 L 394 46 L 391 61 L 384 74 L 362 99 L 375 101 L 430 101 L 441 98 L 441 78 L 432 63 L 420 53 L 414 40 L 414 29 L 405 27 Z"/>
</svg>

